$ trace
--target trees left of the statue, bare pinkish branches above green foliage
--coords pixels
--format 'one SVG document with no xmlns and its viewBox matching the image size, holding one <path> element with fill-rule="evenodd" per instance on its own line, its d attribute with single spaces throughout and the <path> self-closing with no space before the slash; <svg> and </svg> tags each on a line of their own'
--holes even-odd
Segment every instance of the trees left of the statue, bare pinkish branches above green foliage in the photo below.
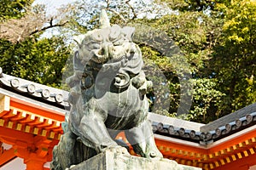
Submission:
<svg viewBox="0 0 256 170">
<path fill-rule="evenodd" d="M 6 74 L 60 88 L 70 48 L 63 37 L 40 36 L 49 28 L 64 26 L 67 21 L 60 20 L 61 16 L 47 17 L 44 6 L 32 7 L 31 3 L 7 1 L 0 4 L 1 9 L 6 8 L 1 13 L 6 20 L 0 23 L 0 66 Z M 11 13 L 10 8 L 15 5 L 17 11 Z"/>
</svg>

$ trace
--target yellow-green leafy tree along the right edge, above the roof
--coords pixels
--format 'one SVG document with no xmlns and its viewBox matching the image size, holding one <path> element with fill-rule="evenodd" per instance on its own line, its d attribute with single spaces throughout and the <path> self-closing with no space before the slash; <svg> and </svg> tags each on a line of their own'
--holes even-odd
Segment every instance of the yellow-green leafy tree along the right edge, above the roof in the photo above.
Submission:
<svg viewBox="0 0 256 170">
<path fill-rule="evenodd" d="M 217 73 L 218 89 L 226 94 L 226 115 L 256 100 L 256 3 L 237 0 L 224 11 L 222 37 L 209 63 Z"/>
</svg>

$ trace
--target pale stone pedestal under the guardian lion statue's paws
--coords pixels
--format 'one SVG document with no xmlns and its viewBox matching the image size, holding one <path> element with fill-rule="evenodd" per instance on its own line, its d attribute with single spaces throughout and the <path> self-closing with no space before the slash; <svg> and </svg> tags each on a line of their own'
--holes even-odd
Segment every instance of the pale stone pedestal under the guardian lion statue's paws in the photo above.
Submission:
<svg viewBox="0 0 256 170">
<path fill-rule="evenodd" d="M 201 168 L 183 166 L 168 159 L 157 161 L 106 151 L 68 170 L 201 170 Z"/>
</svg>

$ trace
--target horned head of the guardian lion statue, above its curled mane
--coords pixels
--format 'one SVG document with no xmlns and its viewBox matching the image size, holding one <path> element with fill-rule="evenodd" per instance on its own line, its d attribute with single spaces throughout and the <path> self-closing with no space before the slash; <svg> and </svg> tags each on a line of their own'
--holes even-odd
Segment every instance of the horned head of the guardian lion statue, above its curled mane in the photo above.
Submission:
<svg viewBox="0 0 256 170">
<path fill-rule="evenodd" d="M 139 50 L 131 41 L 135 28 L 110 26 L 108 15 L 103 9 L 100 14 L 100 28 L 76 37 L 79 43 L 78 58 L 83 65 L 90 59 L 96 63 L 113 62 L 131 58 Z"/>
</svg>

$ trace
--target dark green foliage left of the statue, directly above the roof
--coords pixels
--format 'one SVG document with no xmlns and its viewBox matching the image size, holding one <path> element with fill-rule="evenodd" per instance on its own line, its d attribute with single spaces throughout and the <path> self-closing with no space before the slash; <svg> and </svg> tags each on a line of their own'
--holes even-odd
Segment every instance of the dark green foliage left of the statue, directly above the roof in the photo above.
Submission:
<svg viewBox="0 0 256 170">
<path fill-rule="evenodd" d="M 17 44 L 1 40 L 0 66 L 4 73 L 52 87 L 61 87 L 62 69 L 70 53 L 59 37 Z"/>
</svg>

